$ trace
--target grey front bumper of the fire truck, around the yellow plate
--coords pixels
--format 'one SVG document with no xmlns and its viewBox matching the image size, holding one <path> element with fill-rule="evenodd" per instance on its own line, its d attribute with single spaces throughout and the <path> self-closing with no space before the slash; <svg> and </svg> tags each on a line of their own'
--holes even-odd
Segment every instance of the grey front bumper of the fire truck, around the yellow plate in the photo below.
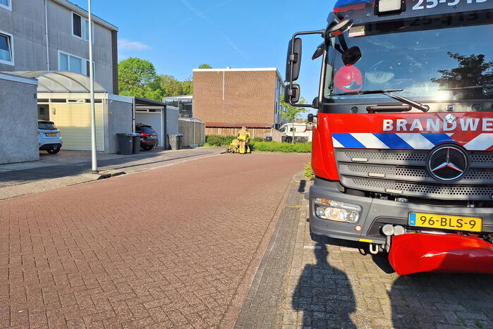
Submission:
<svg viewBox="0 0 493 329">
<path fill-rule="evenodd" d="M 432 229 L 410 225 L 411 213 L 430 213 L 481 218 L 481 232 L 478 233 L 493 236 L 493 208 L 436 206 L 374 199 L 343 193 L 339 187 L 337 182 L 315 178 L 315 184 L 310 187 L 309 194 L 305 195 L 310 200 L 312 234 L 383 246 L 388 243 L 388 237 L 382 230 L 385 225 L 400 226 L 406 232 L 430 231 Z M 453 230 L 442 232 L 454 233 Z"/>
</svg>

